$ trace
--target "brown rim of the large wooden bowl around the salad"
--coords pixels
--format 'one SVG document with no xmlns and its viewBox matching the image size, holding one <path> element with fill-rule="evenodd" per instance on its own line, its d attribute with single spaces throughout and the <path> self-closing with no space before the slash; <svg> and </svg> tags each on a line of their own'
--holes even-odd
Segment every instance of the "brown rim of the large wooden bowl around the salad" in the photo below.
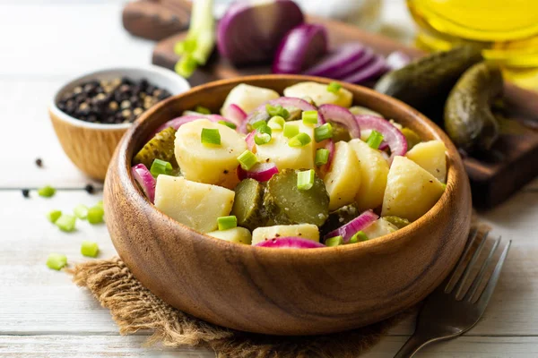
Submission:
<svg viewBox="0 0 538 358">
<path fill-rule="evenodd" d="M 410 225 L 405 226 L 394 233 L 386 234 L 383 236 L 380 236 L 376 239 L 355 243 L 352 245 L 339 245 L 334 247 L 321 247 L 317 250 L 303 250 L 299 248 L 287 248 L 286 250 L 282 250 L 279 248 L 271 248 L 271 247 L 257 247 L 255 245 L 246 245 L 242 243 L 230 243 L 225 240 L 216 239 L 208 234 L 201 233 L 199 231 L 196 231 L 195 229 L 186 226 L 184 224 L 179 223 L 178 221 L 174 220 L 173 218 L 169 217 L 168 215 L 164 214 L 161 210 L 157 209 L 152 202 L 150 202 L 144 195 L 143 192 L 139 190 L 137 184 L 134 181 L 134 177 L 131 174 L 131 165 L 130 162 L 132 160 L 131 157 L 127 157 L 126 153 L 127 151 L 134 152 L 134 134 L 139 131 L 139 128 L 141 125 L 143 125 L 144 122 L 147 122 L 146 119 L 151 117 L 155 112 L 161 111 L 169 106 L 169 103 L 172 101 L 176 101 L 182 97 L 191 96 L 193 93 L 201 92 L 203 93 L 204 90 L 220 87 L 222 85 L 229 85 L 231 83 L 242 83 L 244 81 L 252 81 L 252 80 L 299 80 L 299 81 L 317 81 L 319 83 L 330 83 L 331 81 L 334 81 L 332 79 L 327 79 L 323 77 L 317 77 L 317 76 L 306 76 L 306 75 L 291 75 L 291 74 L 265 74 L 265 75 L 250 75 L 250 76 L 242 76 L 242 77 L 236 77 L 232 79 L 225 79 L 220 81 L 212 81 L 208 82 L 201 86 L 196 86 L 192 88 L 191 90 L 188 90 L 184 93 L 178 94 L 176 96 L 170 97 L 165 99 L 164 101 L 161 101 L 156 106 L 152 107 L 150 110 L 144 112 L 143 115 L 139 118 L 138 121 L 134 123 L 134 125 L 129 128 L 129 130 L 124 135 L 124 138 L 120 145 L 117 147 L 117 163 L 114 165 L 117 166 L 117 175 L 119 176 L 120 182 L 123 182 L 123 179 L 128 178 L 130 180 L 130 185 L 123 185 L 122 190 L 124 191 L 124 195 L 128 196 L 129 200 L 135 200 L 137 204 L 140 205 L 146 205 L 150 206 L 152 210 L 152 214 L 160 216 L 164 220 L 167 221 L 167 225 L 171 226 L 179 226 L 181 228 L 184 228 L 190 233 L 198 234 L 203 236 L 202 239 L 204 240 L 213 240 L 212 244 L 220 246 L 220 250 L 235 250 L 238 251 L 238 255 L 242 254 L 256 254 L 260 256 L 269 256 L 269 257 L 281 257 L 281 258 L 293 258 L 299 256 L 303 256 L 305 260 L 314 260 L 323 262 L 324 260 L 330 260 L 332 257 L 331 255 L 334 255 L 337 251 L 339 255 L 343 254 L 349 254 L 353 255 L 357 251 L 377 251 L 377 248 L 380 247 L 386 247 L 387 244 L 394 243 L 400 238 L 404 238 L 405 236 L 408 236 L 412 233 L 412 231 L 415 230 L 418 226 L 423 226 L 426 223 L 429 222 L 429 220 L 432 220 L 434 217 L 438 217 L 438 214 L 444 210 L 447 209 L 447 206 L 450 204 L 451 200 L 456 200 L 456 198 L 450 198 L 453 195 L 453 192 L 455 192 L 456 186 L 464 185 L 464 178 L 467 178 L 466 173 L 464 171 L 464 165 L 462 158 L 460 157 L 456 146 L 448 139 L 448 136 L 445 132 L 443 132 L 437 124 L 434 124 L 432 121 L 430 121 L 429 118 L 427 118 L 425 115 L 422 115 L 419 111 L 416 109 L 406 105 L 404 102 L 391 98 L 389 96 L 386 96 L 382 93 L 379 93 L 375 90 L 371 90 L 369 88 L 366 88 L 364 86 L 342 82 L 339 81 L 343 88 L 351 88 L 356 91 L 363 92 L 366 96 L 370 97 L 377 97 L 383 100 L 386 103 L 392 103 L 397 107 L 397 111 L 403 111 L 406 112 L 408 115 L 411 115 L 414 117 L 414 120 L 419 121 L 422 125 L 424 125 L 428 130 L 430 130 L 433 137 L 436 139 L 443 141 L 445 143 L 445 146 L 447 147 L 447 186 L 445 189 L 445 192 L 441 195 L 441 197 L 438 199 L 438 201 L 435 203 L 435 205 L 428 210 L 424 215 L 419 217 L 417 220 L 413 221 Z M 140 133 L 142 134 L 142 133 Z M 463 175 L 463 176 L 462 176 Z"/>
</svg>

